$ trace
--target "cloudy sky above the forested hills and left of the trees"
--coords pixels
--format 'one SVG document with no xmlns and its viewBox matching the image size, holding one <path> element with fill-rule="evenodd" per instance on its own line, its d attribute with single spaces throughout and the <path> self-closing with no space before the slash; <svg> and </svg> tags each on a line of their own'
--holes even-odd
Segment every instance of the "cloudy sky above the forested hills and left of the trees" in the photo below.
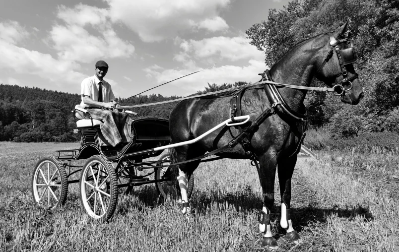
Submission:
<svg viewBox="0 0 399 252">
<path fill-rule="evenodd" d="M 259 80 L 264 53 L 245 31 L 288 0 L 11 0 L 0 8 L 0 83 L 80 93 L 94 65 L 116 97 L 186 96 Z"/>
</svg>

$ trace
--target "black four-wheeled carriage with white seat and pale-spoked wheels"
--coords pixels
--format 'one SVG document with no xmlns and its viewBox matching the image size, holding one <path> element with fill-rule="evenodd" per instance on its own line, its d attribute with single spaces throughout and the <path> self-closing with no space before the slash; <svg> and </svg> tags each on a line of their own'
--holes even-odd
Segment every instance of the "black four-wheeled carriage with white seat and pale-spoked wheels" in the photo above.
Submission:
<svg viewBox="0 0 399 252">
<path fill-rule="evenodd" d="M 110 145 L 100 130 L 100 121 L 92 119 L 87 110 L 75 108 L 73 111 L 77 129 L 81 134 L 78 149 L 58 150 L 56 156 L 41 158 L 32 175 L 34 201 L 43 207 L 54 208 L 67 200 L 68 185 L 79 183 L 79 194 L 83 209 L 94 219 L 110 219 L 116 209 L 118 195 L 128 194 L 133 187 L 155 184 L 160 197 L 176 196 L 169 166 L 168 148 L 194 143 L 183 142 L 170 145 L 169 121 L 158 117 L 138 117 L 136 113 L 125 111 L 131 117 L 128 123 L 132 140 L 123 149 Z M 83 118 L 79 120 L 79 114 Z M 213 132 L 231 120 L 209 130 Z M 157 158 L 154 158 L 157 157 Z M 82 166 L 73 161 L 84 160 Z M 144 159 L 152 159 L 143 161 Z M 80 172 L 80 179 L 71 179 Z M 123 188 L 127 189 L 124 191 Z M 188 194 L 194 187 L 194 176 L 189 180 Z"/>
</svg>

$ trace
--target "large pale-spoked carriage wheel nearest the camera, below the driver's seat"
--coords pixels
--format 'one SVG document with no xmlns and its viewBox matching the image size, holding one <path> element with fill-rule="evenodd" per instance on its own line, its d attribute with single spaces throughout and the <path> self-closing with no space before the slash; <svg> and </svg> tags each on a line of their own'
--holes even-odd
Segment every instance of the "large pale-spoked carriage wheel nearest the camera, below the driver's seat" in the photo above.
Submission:
<svg viewBox="0 0 399 252">
<path fill-rule="evenodd" d="M 110 219 L 118 203 L 118 182 L 112 163 L 104 156 L 92 156 L 83 166 L 79 184 L 84 210 L 94 219 Z"/>
</svg>

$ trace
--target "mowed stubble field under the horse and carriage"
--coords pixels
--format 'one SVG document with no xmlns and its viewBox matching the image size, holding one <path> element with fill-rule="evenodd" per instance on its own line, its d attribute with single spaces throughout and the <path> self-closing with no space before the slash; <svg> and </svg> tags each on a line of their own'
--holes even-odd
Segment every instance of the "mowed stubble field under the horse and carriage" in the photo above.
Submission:
<svg viewBox="0 0 399 252">
<path fill-rule="evenodd" d="M 190 220 L 174 201 L 157 203 L 154 185 L 120 194 L 109 223 L 80 207 L 78 184 L 67 203 L 47 210 L 32 202 L 31 176 L 40 157 L 77 143 L 0 142 L 0 251 L 265 251 L 255 209 L 262 189 L 246 160 L 203 163 L 195 172 Z M 275 187 L 272 220 L 280 251 L 399 251 L 399 153 L 317 152 L 298 161 L 292 219 L 303 243 L 279 227 Z M 83 164 L 83 161 L 80 162 Z"/>
</svg>

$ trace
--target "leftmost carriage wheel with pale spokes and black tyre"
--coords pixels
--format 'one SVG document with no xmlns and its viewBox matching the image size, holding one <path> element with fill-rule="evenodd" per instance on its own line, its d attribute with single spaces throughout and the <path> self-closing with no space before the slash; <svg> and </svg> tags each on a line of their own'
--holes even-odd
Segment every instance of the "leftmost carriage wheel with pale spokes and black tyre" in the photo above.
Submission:
<svg viewBox="0 0 399 252">
<path fill-rule="evenodd" d="M 41 158 L 32 175 L 32 195 L 35 203 L 54 208 L 65 203 L 67 193 L 67 172 L 60 160 L 54 156 Z"/>
</svg>

